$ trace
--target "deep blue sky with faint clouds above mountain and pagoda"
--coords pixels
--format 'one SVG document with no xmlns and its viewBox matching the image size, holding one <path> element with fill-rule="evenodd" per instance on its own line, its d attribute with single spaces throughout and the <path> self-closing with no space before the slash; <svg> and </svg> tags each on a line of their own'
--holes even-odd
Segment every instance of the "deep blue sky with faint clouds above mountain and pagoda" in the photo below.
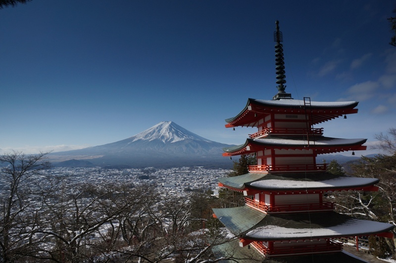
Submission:
<svg viewBox="0 0 396 263">
<path fill-rule="evenodd" d="M 0 149 L 97 146 L 168 120 L 242 144 L 254 131 L 226 129 L 224 119 L 247 98 L 277 93 L 276 20 L 286 91 L 359 101 L 359 113 L 317 127 L 370 146 L 396 127 L 387 21 L 395 8 L 391 0 L 33 0 L 0 9 Z"/>
</svg>

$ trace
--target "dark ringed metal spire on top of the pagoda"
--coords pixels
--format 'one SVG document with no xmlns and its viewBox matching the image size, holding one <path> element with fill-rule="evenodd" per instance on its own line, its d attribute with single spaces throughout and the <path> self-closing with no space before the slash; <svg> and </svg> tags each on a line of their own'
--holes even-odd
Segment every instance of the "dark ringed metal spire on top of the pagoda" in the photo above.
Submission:
<svg viewBox="0 0 396 263">
<path fill-rule="evenodd" d="M 292 99 L 292 94 L 286 93 L 286 75 L 285 75 L 285 62 L 283 57 L 283 35 L 282 32 L 279 31 L 279 21 L 275 22 L 276 24 L 276 31 L 274 32 L 274 41 L 276 42 L 275 45 L 275 69 L 276 69 L 276 83 L 278 84 L 278 94 L 276 94 L 272 99 L 279 100 L 279 99 Z"/>
</svg>

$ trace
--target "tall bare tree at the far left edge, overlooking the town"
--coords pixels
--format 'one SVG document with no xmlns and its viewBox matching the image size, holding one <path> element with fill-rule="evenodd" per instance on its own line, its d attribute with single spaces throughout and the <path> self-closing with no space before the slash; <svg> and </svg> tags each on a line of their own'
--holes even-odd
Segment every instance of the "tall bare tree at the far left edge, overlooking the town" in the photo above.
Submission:
<svg viewBox="0 0 396 263">
<path fill-rule="evenodd" d="M 36 251 L 40 238 L 43 199 L 50 192 L 40 185 L 48 179 L 43 170 L 49 168 L 47 153 L 25 155 L 10 152 L 0 156 L 0 262 L 13 262 Z"/>
</svg>

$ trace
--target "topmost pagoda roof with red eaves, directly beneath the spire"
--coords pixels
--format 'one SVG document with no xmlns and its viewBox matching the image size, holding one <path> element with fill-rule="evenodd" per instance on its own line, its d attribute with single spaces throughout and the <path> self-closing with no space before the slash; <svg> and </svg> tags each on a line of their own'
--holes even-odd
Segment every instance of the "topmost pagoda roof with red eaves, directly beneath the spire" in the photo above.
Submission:
<svg viewBox="0 0 396 263">
<path fill-rule="evenodd" d="M 304 104 L 303 100 L 279 99 L 279 100 L 257 100 L 249 98 L 245 108 L 235 117 L 226 119 L 226 127 L 247 126 L 256 127 L 259 117 L 257 114 L 270 113 L 293 113 L 309 114 L 312 123 L 328 121 L 344 114 L 357 113 L 356 101 L 347 102 L 316 102 Z"/>
</svg>

